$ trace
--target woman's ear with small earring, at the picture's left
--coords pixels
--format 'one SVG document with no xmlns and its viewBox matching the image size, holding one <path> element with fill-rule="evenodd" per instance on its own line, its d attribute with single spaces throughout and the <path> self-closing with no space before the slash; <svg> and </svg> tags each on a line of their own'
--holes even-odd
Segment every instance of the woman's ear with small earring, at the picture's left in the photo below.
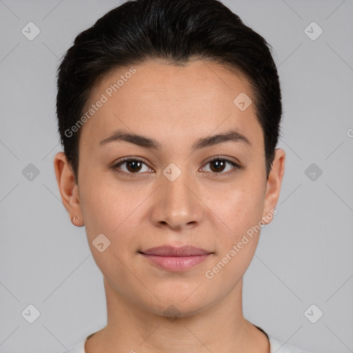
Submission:
<svg viewBox="0 0 353 353">
<path fill-rule="evenodd" d="M 76 216 L 74 225 L 81 227 L 84 223 L 79 201 L 79 185 L 77 185 L 74 180 L 74 173 L 72 172 L 71 165 L 68 163 L 68 159 L 66 159 L 64 152 L 58 152 L 55 155 L 54 170 L 61 194 L 61 200 L 70 215 L 70 220 L 72 221 L 72 217 Z"/>
</svg>

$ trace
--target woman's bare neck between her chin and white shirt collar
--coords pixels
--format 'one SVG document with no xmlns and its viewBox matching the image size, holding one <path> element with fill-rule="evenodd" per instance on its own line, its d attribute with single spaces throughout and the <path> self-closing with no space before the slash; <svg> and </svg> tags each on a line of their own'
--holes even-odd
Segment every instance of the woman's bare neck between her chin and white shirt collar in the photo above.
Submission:
<svg viewBox="0 0 353 353">
<path fill-rule="evenodd" d="M 183 305 L 156 305 L 154 312 L 132 303 L 104 279 L 108 322 L 85 343 L 86 353 L 269 353 L 263 332 L 244 319 L 242 280 L 221 301 L 198 312 Z M 159 303 L 161 304 L 161 303 Z M 177 309 L 178 307 L 178 309 Z"/>
</svg>

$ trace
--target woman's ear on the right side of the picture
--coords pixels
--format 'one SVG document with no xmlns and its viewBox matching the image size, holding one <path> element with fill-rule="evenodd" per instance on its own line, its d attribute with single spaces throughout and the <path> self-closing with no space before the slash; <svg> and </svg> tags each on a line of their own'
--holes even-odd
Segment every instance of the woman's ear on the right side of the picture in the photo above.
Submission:
<svg viewBox="0 0 353 353">
<path fill-rule="evenodd" d="M 268 181 L 266 186 L 265 201 L 263 206 L 263 223 L 271 223 L 274 208 L 276 208 L 277 201 L 279 199 L 279 192 L 281 191 L 281 183 L 284 174 L 285 165 L 285 152 L 281 148 L 276 148 L 275 157 L 272 163 L 270 174 L 268 175 Z M 269 216 L 272 214 L 272 216 Z"/>
</svg>

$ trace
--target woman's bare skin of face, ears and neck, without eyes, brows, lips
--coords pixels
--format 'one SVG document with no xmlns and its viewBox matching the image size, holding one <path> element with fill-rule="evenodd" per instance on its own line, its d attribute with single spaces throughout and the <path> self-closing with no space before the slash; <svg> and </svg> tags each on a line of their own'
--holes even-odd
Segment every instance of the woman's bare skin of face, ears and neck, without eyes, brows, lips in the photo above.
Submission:
<svg viewBox="0 0 353 353">
<path fill-rule="evenodd" d="M 244 111 L 233 103 L 241 92 L 252 97 L 241 73 L 203 61 L 185 67 L 146 61 L 134 68 L 132 78 L 81 128 L 78 184 L 65 154 L 54 159 L 63 205 L 71 218 L 77 216 L 74 225 L 85 225 L 103 273 L 108 324 L 88 339 L 85 351 L 269 353 L 265 334 L 242 310 L 243 275 L 260 232 L 212 279 L 205 272 L 275 208 L 285 152 L 276 149 L 266 179 L 254 100 Z M 89 103 L 127 71 L 119 68 L 103 77 Z M 234 128 L 251 145 L 228 141 L 192 152 L 196 139 Z M 161 148 L 122 141 L 99 145 L 118 129 L 155 139 Z M 209 163 L 216 156 L 241 168 L 227 163 L 217 172 Z M 109 168 L 123 157 L 139 157 L 145 164 L 137 172 L 129 163 L 121 165 L 125 175 Z M 163 174 L 170 163 L 181 170 L 174 181 Z M 92 244 L 101 233 L 111 242 L 103 252 Z M 190 244 L 213 254 L 185 272 L 161 270 L 139 254 L 166 244 Z M 174 320 L 164 313 L 170 305 L 179 310 Z"/>
</svg>

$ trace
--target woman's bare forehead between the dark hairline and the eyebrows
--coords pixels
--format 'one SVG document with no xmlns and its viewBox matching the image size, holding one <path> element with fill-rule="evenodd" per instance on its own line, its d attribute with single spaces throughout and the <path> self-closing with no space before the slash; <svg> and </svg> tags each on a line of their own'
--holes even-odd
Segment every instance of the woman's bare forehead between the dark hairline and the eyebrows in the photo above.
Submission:
<svg viewBox="0 0 353 353">
<path fill-rule="evenodd" d="M 237 128 L 244 134 L 247 131 L 250 140 L 259 140 L 262 131 L 254 104 L 243 111 L 234 104 L 241 94 L 252 99 L 245 76 L 217 63 L 194 61 L 177 66 L 146 61 L 133 69 L 112 70 L 101 78 L 85 112 L 92 104 L 104 103 L 81 134 L 88 137 L 84 141 L 98 144 L 119 128 L 136 134 L 150 132 L 154 139 L 165 136 L 165 141 Z"/>
</svg>

